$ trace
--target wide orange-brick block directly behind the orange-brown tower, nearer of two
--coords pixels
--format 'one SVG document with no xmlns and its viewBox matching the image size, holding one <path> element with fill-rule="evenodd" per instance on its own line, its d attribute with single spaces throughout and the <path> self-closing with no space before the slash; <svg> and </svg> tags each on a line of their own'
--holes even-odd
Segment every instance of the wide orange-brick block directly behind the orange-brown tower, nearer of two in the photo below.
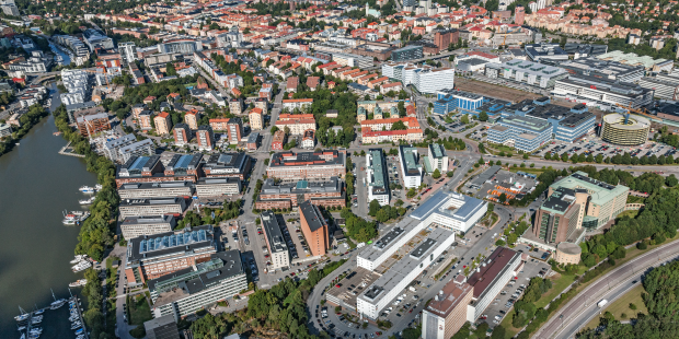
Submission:
<svg viewBox="0 0 679 339">
<path fill-rule="evenodd" d="M 346 196 L 344 184 L 336 176 L 324 182 L 299 180 L 291 183 L 276 183 L 272 178 L 264 180 L 255 209 L 291 209 L 301 201 L 310 201 L 317 206 L 344 207 Z"/>
</svg>

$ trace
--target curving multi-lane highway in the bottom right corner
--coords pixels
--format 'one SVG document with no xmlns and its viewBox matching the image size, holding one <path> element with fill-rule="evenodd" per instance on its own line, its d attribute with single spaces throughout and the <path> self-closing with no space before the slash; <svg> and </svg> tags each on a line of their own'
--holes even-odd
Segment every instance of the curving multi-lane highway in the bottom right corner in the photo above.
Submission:
<svg viewBox="0 0 679 339">
<path fill-rule="evenodd" d="M 568 302 L 557 315 L 546 322 L 533 338 L 571 338 L 599 314 L 597 303 L 603 299 L 612 301 L 641 281 L 652 267 L 663 265 L 679 256 L 679 241 L 652 249 L 610 271 L 583 290 Z"/>
</svg>

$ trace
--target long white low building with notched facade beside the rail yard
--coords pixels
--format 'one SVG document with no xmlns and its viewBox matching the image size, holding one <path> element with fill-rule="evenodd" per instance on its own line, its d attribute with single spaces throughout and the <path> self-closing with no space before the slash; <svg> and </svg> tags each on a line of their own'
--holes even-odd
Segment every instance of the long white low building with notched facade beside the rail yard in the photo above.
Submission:
<svg viewBox="0 0 679 339">
<path fill-rule="evenodd" d="M 540 89 L 553 89 L 557 80 L 568 77 L 568 72 L 563 68 L 514 59 L 503 63 L 486 63 L 485 75 Z"/>
</svg>

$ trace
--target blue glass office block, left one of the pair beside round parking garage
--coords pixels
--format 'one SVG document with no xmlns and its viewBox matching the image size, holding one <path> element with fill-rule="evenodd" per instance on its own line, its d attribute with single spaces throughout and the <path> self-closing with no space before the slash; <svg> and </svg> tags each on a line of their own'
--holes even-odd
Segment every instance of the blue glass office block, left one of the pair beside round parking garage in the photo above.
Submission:
<svg viewBox="0 0 679 339">
<path fill-rule="evenodd" d="M 532 152 L 552 139 L 549 122 L 529 116 L 508 116 L 487 130 L 487 141 Z"/>
</svg>

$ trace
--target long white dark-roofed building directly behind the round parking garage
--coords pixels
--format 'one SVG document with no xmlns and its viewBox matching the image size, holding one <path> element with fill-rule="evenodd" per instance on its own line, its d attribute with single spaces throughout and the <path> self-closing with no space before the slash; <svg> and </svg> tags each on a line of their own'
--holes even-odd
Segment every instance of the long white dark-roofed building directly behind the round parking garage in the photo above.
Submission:
<svg viewBox="0 0 679 339">
<path fill-rule="evenodd" d="M 653 90 L 638 84 L 588 75 L 569 75 L 555 82 L 554 95 L 587 103 L 602 110 L 615 110 L 617 105 L 638 108 L 653 102 Z"/>
</svg>

